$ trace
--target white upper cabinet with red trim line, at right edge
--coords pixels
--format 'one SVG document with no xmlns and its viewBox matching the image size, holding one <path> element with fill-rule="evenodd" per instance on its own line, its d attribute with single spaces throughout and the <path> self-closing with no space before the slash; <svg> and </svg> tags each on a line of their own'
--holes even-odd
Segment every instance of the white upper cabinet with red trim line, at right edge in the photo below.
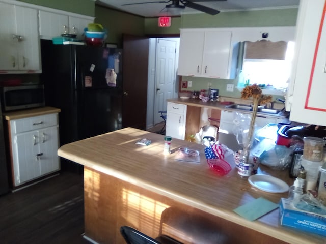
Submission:
<svg viewBox="0 0 326 244">
<path fill-rule="evenodd" d="M 326 126 L 325 0 L 302 0 L 297 19 L 294 65 L 286 98 L 290 120 Z"/>
</svg>

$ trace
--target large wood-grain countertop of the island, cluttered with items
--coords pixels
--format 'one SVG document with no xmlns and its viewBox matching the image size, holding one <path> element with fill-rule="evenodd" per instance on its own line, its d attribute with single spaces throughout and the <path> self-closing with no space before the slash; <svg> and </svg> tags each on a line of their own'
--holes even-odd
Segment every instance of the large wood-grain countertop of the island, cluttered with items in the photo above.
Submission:
<svg viewBox="0 0 326 244">
<path fill-rule="evenodd" d="M 152 143 L 135 144 L 142 138 Z M 200 163 L 174 160 L 174 152 L 181 146 L 199 150 Z M 162 154 L 163 147 L 164 136 L 125 128 L 63 145 L 58 155 L 288 243 L 324 243 L 322 236 L 281 226 L 279 209 L 252 222 L 233 212 L 259 197 L 279 203 L 287 193 L 260 191 L 240 178 L 235 168 L 225 176 L 216 175 L 206 163 L 203 145 L 173 138 L 172 154 L 168 156 Z M 260 170 L 263 174 L 268 172 L 273 171 Z M 287 171 L 276 170 L 273 175 L 289 185 L 293 183 Z"/>
</svg>

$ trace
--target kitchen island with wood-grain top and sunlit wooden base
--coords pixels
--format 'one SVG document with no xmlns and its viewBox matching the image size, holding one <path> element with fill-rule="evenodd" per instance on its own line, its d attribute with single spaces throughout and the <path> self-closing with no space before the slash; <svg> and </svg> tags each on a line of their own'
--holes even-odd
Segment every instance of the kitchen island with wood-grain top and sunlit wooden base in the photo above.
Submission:
<svg viewBox="0 0 326 244">
<path fill-rule="evenodd" d="M 151 144 L 135 144 L 143 138 Z M 322 236 L 281 226 L 279 209 L 256 221 L 233 211 L 259 197 L 278 203 L 287 193 L 260 191 L 234 168 L 217 175 L 200 144 L 173 139 L 168 156 L 163 147 L 164 136 L 125 128 L 59 148 L 59 156 L 84 165 L 88 238 L 125 243 L 119 228 L 129 225 L 149 236 L 166 234 L 183 243 L 324 243 Z M 179 147 L 199 150 L 200 163 L 176 161 Z M 273 175 L 292 185 L 287 171 Z"/>
</svg>

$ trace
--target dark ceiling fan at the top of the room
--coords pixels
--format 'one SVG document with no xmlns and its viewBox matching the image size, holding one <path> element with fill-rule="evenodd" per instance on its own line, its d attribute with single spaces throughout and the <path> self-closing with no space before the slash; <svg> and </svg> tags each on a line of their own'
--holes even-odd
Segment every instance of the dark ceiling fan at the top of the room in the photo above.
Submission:
<svg viewBox="0 0 326 244">
<path fill-rule="evenodd" d="M 189 7 L 189 8 L 196 9 L 196 10 L 199 10 L 199 11 L 207 13 L 207 14 L 215 15 L 215 14 L 220 13 L 220 11 L 216 10 L 216 9 L 206 7 L 206 6 L 203 6 L 203 5 L 200 5 L 200 4 L 196 4 L 194 2 L 218 2 L 218 1 L 227 1 L 227 0 L 193 0 L 193 1 L 189 1 L 189 0 L 168 0 L 168 1 L 154 1 L 154 2 L 141 2 L 141 3 L 132 3 L 132 4 L 122 4 L 122 5 L 169 3 L 169 2 L 172 2 L 171 4 L 167 4 L 165 6 L 165 8 L 168 9 L 168 12 L 173 13 L 173 14 L 177 14 L 177 13 L 180 14 L 180 12 L 185 9 L 185 7 Z"/>
</svg>

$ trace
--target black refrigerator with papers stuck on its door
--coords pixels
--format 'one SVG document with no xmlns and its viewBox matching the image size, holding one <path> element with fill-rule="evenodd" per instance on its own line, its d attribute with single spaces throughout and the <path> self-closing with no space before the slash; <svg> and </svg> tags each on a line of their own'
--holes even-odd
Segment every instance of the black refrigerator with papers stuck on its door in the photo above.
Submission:
<svg viewBox="0 0 326 244">
<path fill-rule="evenodd" d="M 41 40 L 41 58 L 45 105 L 61 109 L 60 146 L 121 129 L 122 49 Z"/>
</svg>

